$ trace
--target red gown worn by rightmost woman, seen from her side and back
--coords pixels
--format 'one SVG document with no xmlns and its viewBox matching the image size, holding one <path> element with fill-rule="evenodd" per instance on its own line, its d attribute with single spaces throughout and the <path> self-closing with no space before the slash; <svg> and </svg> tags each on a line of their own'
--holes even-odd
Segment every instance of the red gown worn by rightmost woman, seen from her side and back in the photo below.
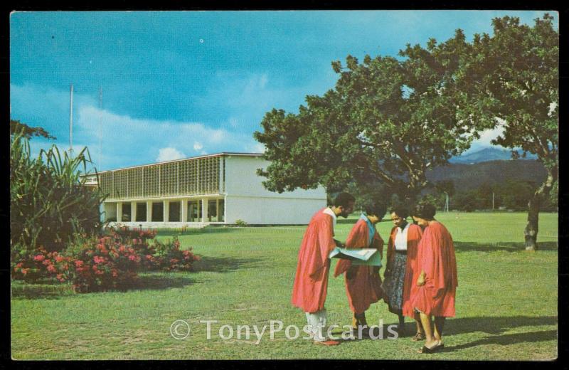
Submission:
<svg viewBox="0 0 569 370">
<path fill-rule="evenodd" d="M 418 253 L 419 273 L 425 271 L 425 285 L 411 291 L 413 307 L 425 314 L 454 317 L 454 295 L 458 286 L 454 245 L 447 228 L 431 223 L 423 231 Z"/>
</svg>

